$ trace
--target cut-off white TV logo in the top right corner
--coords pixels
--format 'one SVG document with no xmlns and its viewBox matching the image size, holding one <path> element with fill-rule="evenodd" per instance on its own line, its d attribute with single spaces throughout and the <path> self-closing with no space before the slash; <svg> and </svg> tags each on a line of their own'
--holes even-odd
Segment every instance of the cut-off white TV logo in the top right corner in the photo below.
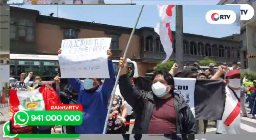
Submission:
<svg viewBox="0 0 256 140">
<path fill-rule="evenodd" d="M 254 9 L 249 4 L 226 4 L 226 5 L 240 5 L 240 20 L 250 20 L 254 16 Z"/>
</svg>

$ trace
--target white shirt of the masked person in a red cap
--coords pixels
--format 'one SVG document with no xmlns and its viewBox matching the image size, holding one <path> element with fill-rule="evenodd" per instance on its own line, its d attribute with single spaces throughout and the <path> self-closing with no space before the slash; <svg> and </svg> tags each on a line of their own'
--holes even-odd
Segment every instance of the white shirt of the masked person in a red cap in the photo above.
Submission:
<svg viewBox="0 0 256 140">
<path fill-rule="evenodd" d="M 240 98 L 240 90 L 234 90 L 238 98 Z M 238 104 L 238 99 L 226 86 L 226 102 L 225 102 L 225 108 L 224 108 L 224 113 L 222 115 L 222 120 L 217 121 L 217 132 L 221 134 L 240 134 L 241 128 L 240 128 L 240 113 L 234 119 L 234 121 L 230 124 L 230 126 L 227 126 L 224 124 L 226 121 L 227 117 L 230 115 L 230 113 L 234 110 L 236 105 Z M 240 109 L 239 109 L 240 111 Z"/>
</svg>

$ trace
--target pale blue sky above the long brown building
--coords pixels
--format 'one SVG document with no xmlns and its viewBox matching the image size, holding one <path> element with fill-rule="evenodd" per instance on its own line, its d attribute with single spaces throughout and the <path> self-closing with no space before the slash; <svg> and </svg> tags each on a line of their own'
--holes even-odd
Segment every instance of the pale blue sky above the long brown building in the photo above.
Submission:
<svg viewBox="0 0 256 140">
<path fill-rule="evenodd" d="M 214 2 L 216 3 L 216 1 Z M 172 3 L 172 1 L 165 1 L 164 4 L 176 3 Z M 38 10 L 42 15 L 49 15 L 53 12 L 54 16 L 57 16 L 56 5 L 24 5 L 18 7 Z M 58 6 L 58 17 L 89 22 L 94 21 L 95 23 L 104 23 L 108 25 L 133 27 L 140 8 L 141 5 L 60 5 Z M 223 5 L 184 5 L 184 33 L 192 33 L 210 37 L 225 37 L 234 33 L 240 33 L 240 27 L 237 27 L 234 24 L 213 25 L 207 23 L 205 19 L 205 14 L 209 10 L 233 10 L 234 12 L 239 13 L 240 7 Z M 173 15 L 174 16 L 171 19 L 171 28 L 173 31 L 175 31 L 175 9 Z M 157 7 L 155 5 L 145 5 L 137 28 L 156 27 L 156 24 L 158 22 L 159 17 Z"/>
</svg>

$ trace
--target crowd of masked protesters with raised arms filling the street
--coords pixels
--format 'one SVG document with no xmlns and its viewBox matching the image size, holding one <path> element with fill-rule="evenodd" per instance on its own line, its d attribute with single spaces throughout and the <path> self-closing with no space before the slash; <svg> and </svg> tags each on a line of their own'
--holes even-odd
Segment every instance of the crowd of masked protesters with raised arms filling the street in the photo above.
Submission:
<svg viewBox="0 0 256 140">
<path fill-rule="evenodd" d="M 61 53 L 59 49 L 58 53 Z M 83 107 L 83 121 L 79 126 L 62 126 L 65 134 L 101 134 L 104 129 L 104 122 L 108 112 L 111 92 L 116 81 L 115 72 L 111 60 L 112 53 L 107 51 L 108 72 L 110 78 L 61 78 L 60 69 L 54 78 L 52 88 L 56 91 L 63 104 L 81 104 Z M 127 76 L 126 58 L 120 58 L 122 68 L 119 85 L 116 88 L 116 95 L 112 97 L 112 107 L 108 118 L 108 134 L 123 134 L 124 140 L 129 140 L 130 118 L 134 114 L 135 122 L 132 133 L 135 140 L 140 140 L 142 134 L 165 134 L 168 138 L 193 139 L 193 135 L 198 133 L 198 120 L 194 118 L 190 106 L 179 94 L 174 92 L 174 77 L 196 78 L 201 80 L 223 80 L 226 84 L 226 95 L 232 96 L 234 102 L 240 102 L 242 116 L 247 116 L 244 111 L 244 103 L 249 102 L 251 114 L 254 116 L 256 80 L 245 77 L 240 84 L 240 66 L 233 62 L 232 68 L 226 63 L 214 69 L 214 64 L 210 63 L 207 70 L 201 70 L 200 65 L 195 62 L 193 66 L 186 66 L 181 72 L 176 72 L 178 65 L 174 64 L 170 71 L 155 72 L 152 77 L 152 91 L 144 91 L 136 88 L 133 81 Z M 42 86 L 40 76 L 35 76 L 33 84 L 28 84 L 33 73 L 28 77 L 21 74 L 20 81 L 13 82 L 12 89 L 20 89 L 20 85 L 26 89 L 36 89 Z M 240 91 L 241 88 L 241 91 Z M 245 97 L 245 94 L 247 96 Z M 246 99 L 245 99 L 246 98 Z M 246 101 L 245 101 L 246 100 Z M 225 104 L 225 109 L 228 107 Z M 224 110 L 224 114 L 225 114 Z M 227 112 L 228 113 L 228 112 Z M 255 118 L 255 117 L 254 117 Z M 236 118 L 240 120 L 240 118 Z M 225 120 L 218 120 L 217 133 L 237 134 L 240 133 L 240 125 L 235 123 L 225 126 Z M 206 133 L 208 120 L 204 120 L 204 133 Z M 240 123 L 239 123 L 240 124 Z M 50 126 L 37 126 L 38 133 L 51 133 Z M 239 130 L 238 130 L 239 129 Z M 181 136 L 177 134 L 182 134 Z M 191 138 L 190 138 L 191 137 Z"/>
</svg>

